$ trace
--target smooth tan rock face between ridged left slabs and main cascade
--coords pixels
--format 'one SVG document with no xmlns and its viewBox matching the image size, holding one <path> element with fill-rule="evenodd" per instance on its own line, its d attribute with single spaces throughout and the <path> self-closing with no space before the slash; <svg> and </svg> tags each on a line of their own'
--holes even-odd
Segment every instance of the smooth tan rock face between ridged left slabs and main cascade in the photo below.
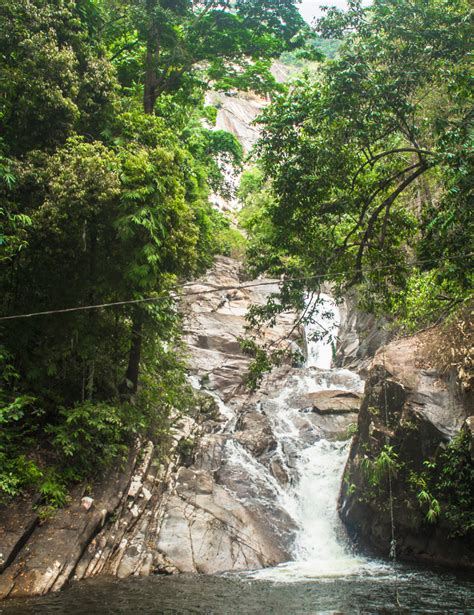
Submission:
<svg viewBox="0 0 474 615">
<path fill-rule="evenodd" d="M 239 263 L 220 257 L 198 288 L 237 286 L 239 275 Z M 185 302 L 189 366 L 202 390 L 215 396 L 220 427 L 201 436 L 194 462 L 168 489 L 157 547 L 177 571 L 252 569 L 289 558 L 294 522 L 275 502 L 277 480 L 260 471 L 272 463 L 275 435 L 259 396 L 243 384 L 250 358 L 238 341 L 249 306 L 275 290 L 252 285 Z M 266 339 L 285 337 L 292 323 L 291 315 L 282 317 Z M 273 462 L 284 481 L 285 470 Z"/>
</svg>

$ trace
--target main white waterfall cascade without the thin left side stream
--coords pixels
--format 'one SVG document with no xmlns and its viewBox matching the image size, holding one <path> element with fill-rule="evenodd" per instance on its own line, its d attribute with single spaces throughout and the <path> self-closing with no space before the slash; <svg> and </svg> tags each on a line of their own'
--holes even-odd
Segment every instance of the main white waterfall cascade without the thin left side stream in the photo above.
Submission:
<svg viewBox="0 0 474 615">
<path fill-rule="evenodd" d="M 337 332 L 339 312 L 330 297 L 322 296 L 320 311 L 324 311 L 326 320 L 332 313 L 333 322 L 328 323 L 327 329 Z M 326 327 L 318 323 L 306 328 L 305 367 L 293 376 L 291 388 L 282 390 L 267 412 L 282 455 L 294 460 L 293 485 L 280 497 L 298 527 L 294 561 L 251 573 L 254 578 L 298 581 L 373 568 L 373 564 L 353 553 L 336 509 L 349 441 L 322 437 L 308 415 L 302 416 L 301 410 L 292 404 L 295 394 L 331 389 L 362 392 L 363 382 L 357 374 L 331 369 L 333 350 L 327 339 L 318 339 L 322 329 Z"/>
</svg>

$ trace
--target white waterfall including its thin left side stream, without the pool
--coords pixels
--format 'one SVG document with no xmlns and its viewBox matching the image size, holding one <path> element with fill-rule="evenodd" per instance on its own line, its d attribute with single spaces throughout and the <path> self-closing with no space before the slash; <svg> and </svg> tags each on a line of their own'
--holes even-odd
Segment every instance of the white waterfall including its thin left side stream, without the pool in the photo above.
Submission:
<svg viewBox="0 0 474 615">
<path fill-rule="evenodd" d="M 312 301 L 308 299 L 307 311 L 312 309 Z M 361 394 L 364 385 L 357 374 L 331 368 L 331 338 L 337 333 L 339 311 L 327 295 L 318 297 L 317 309 L 316 322 L 305 330 L 305 365 L 290 369 L 283 378 L 277 377 L 275 388 L 267 387 L 257 404 L 257 411 L 271 425 L 276 443 L 271 460 L 283 468 L 288 477 L 286 484 L 275 475 L 268 458 L 251 454 L 239 441 L 239 408 L 225 404 L 217 393 L 211 392 L 225 420 L 223 433 L 227 438 L 220 477 L 247 510 L 264 518 L 275 533 L 289 538 L 291 543 L 292 561 L 249 573 L 253 578 L 299 581 L 371 573 L 374 566 L 380 573 L 379 564 L 354 554 L 337 513 L 349 452 L 349 441 L 344 435 L 347 422 L 341 427 L 337 423 L 340 417 L 321 417 L 301 401 L 331 390 Z M 322 331 L 330 332 L 330 338 L 322 337 Z M 192 384 L 200 387 L 198 379 L 192 380 Z M 328 424 L 337 427 L 333 437 L 328 436 Z M 282 520 L 284 523 L 280 524 Z"/>
</svg>

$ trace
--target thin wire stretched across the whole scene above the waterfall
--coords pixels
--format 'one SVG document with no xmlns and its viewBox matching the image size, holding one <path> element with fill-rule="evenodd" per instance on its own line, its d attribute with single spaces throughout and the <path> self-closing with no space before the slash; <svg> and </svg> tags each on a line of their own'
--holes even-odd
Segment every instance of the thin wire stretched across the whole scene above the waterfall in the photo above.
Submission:
<svg viewBox="0 0 474 615">
<path fill-rule="evenodd" d="M 471 256 L 474 256 L 474 252 L 470 252 L 469 254 L 463 254 L 460 256 L 452 256 L 451 258 L 447 258 L 445 260 L 461 260 L 461 259 L 465 259 L 465 258 L 470 258 Z M 418 261 L 416 264 L 413 264 L 411 266 L 412 269 L 414 269 L 415 267 L 417 267 L 418 265 L 421 265 L 423 263 L 430 263 L 432 262 L 433 259 L 426 259 L 426 260 L 420 260 Z M 391 269 L 392 265 L 383 265 L 380 267 L 374 267 L 372 269 L 367 270 L 368 272 L 375 272 L 375 271 L 384 271 L 386 269 Z M 205 282 L 188 282 L 185 284 L 175 284 L 174 286 L 171 286 L 168 290 L 169 292 L 173 292 L 173 291 L 177 291 L 179 289 L 182 288 L 189 288 L 192 286 L 207 286 L 207 287 L 211 287 L 209 288 L 209 290 L 199 290 L 199 291 L 194 291 L 194 292 L 189 292 L 186 293 L 187 297 L 193 296 L 193 295 L 208 295 L 211 293 L 216 293 L 216 292 L 221 292 L 221 291 L 226 291 L 226 290 L 242 290 L 242 289 L 246 289 L 246 288 L 255 288 L 258 286 L 274 286 L 275 284 L 284 284 L 284 283 L 288 283 L 288 282 L 306 282 L 306 281 L 311 281 L 311 280 L 325 280 L 325 279 L 331 279 L 331 278 L 335 278 L 337 276 L 344 276 L 347 275 L 348 273 L 356 273 L 356 270 L 353 269 L 348 269 L 346 271 L 340 271 L 337 273 L 322 273 L 319 275 L 313 275 L 313 276 L 302 276 L 302 277 L 297 277 L 297 278 L 286 278 L 283 280 L 270 280 L 267 282 L 264 281 L 255 281 L 255 282 L 251 282 L 248 284 L 239 284 L 238 286 L 235 285 L 231 285 L 231 286 L 212 286 L 211 284 L 205 283 Z M 5 320 L 16 320 L 19 318 L 33 318 L 34 316 L 49 316 L 52 314 L 66 314 L 69 312 L 83 312 L 86 310 L 98 310 L 98 309 L 102 309 L 102 308 L 107 308 L 107 307 L 116 307 L 116 306 L 121 306 L 121 305 L 137 305 L 139 303 L 159 303 L 161 301 L 166 301 L 169 299 L 169 295 L 162 295 L 162 296 L 158 296 L 158 297 L 143 297 L 141 299 L 128 299 L 125 301 L 113 301 L 110 303 L 97 303 L 97 304 L 93 304 L 93 305 L 81 305 L 81 306 L 76 306 L 76 307 L 71 307 L 71 308 L 60 308 L 57 310 L 44 310 L 41 312 L 29 312 L 29 313 L 25 313 L 25 314 L 12 314 L 11 316 L 1 316 L 0 317 L 0 321 L 5 321 Z"/>
</svg>

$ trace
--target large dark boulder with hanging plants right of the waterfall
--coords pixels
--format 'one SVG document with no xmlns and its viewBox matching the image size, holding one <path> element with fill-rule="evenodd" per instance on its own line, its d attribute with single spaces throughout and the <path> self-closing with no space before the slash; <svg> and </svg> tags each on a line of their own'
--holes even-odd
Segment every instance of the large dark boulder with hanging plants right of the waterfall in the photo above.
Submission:
<svg viewBox="0 0 474 615">
<path fill-rule="evenodd" d="M 474 533 L 460 531 L 449 514 L 449 498 L 456 495 L 438 494 L 430 478 L 446 476 L 447 447 L 468 429 L 472 410 L 419 359 L 416 337 L 377 353 L 344 473 L 340 515 L 362 545 L 388 556 L 392 504 L 400 558 L 473 567 Z"/>
</svg>

